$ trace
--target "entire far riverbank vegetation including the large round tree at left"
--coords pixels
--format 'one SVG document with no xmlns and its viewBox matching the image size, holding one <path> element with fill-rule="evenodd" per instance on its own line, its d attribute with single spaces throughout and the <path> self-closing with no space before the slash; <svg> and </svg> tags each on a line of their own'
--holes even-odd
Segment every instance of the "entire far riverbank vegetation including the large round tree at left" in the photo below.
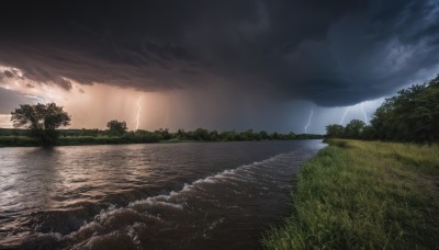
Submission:
<svg viewBox="0 0 439 250">
<path fill-rule="evenodd" d="M 112 120 L 101 129 L 56 129 L 70 124 L 70 116 L 55 103 L 20 105 L 11 112 L 14 129 L 0 128 L 0 147 L 26 146 L 76 146 L 105 144 L 148 144 L 181 141 L 246 141 L 246 140 L 292 140 L 320 139 L 322 135 L 294 133 L 280 134 L 264 130 L 245 132 L 228 130 L 218 133 L 196 128 L 193 132 L 179 129 L 177 133 L 166 129 L 148 132 L 144 129 L 128 130 L 123 121 Z M 20 129 L 24 128 L 24 129 Z"/>
</svg>

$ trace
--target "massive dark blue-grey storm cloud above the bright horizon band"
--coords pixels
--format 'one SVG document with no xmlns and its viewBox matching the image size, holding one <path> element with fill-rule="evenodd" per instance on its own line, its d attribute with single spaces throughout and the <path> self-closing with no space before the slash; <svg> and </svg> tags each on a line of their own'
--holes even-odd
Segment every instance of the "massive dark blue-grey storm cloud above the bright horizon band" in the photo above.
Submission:
<svg viewBox="0 0 439 250">
<path fill-rule="evenodd" d="M 352 104 L 435 73 L 438 9 L 424 0 L 19 1 L 0 16 L 0 64 L 65 89 L 75 80 L 160 91 L 216 77 L 277 98 Z"/>
</svg>

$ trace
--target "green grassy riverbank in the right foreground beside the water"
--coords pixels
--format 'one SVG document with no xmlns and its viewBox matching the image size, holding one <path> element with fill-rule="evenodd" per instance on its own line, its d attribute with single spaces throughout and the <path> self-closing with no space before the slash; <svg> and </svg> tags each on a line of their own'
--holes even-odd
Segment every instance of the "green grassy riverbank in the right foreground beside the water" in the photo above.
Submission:
<svg viewBox="0 0 439 250">
<path fill-rule="evenodd" d="M 295 177 L 267 249 L 437 249 L 439 147 L 330 140 Z"/>
</svg>

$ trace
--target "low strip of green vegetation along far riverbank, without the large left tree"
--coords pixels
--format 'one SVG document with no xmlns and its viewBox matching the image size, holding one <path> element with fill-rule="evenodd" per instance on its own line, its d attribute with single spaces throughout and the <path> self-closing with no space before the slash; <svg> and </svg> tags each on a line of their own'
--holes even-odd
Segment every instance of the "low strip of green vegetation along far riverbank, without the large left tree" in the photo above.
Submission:
<svg viewBox="0 0 439 250">
<path fill-rule="evenodd" d="M 114 124 L 114 122 L 113 122 Z M 312 134 L 280 134 L 267 132 L 216 132 L 198 128 L 192 132 L 170 132 L 169 129 L 157 129 L 148 132 L 137 129 L 127 132 L 126 129 L 59 129 L 55 146 L 75 145 L 105 145 L 105 144 L 148 144 L 148 143 L 183 143 L 183 141 L 246 141 L 246 140 L 293 140 L 293 139 L 319 139 L 322 135 Z M 25 147 L 40 146 L 40 141 L 29 136 L 25 129 L 1 129 L 0 147 Z"/>
</svg>

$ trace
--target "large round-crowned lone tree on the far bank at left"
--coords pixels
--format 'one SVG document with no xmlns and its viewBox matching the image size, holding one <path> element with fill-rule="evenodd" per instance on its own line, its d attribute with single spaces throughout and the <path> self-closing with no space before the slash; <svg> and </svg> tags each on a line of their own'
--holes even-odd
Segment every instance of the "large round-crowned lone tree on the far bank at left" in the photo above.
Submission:
<svg viewBox="0 0 439 250">
<path fill-rule="evenodd" d="M 56 128 L 70 125 L 70 116 L 55 103 L 35 105 L 20 105 L 11 112 L 13 126 L 30 129 L 31 137 L 43 146 L 52 146 L 59 134 Z"/>
</svg>

